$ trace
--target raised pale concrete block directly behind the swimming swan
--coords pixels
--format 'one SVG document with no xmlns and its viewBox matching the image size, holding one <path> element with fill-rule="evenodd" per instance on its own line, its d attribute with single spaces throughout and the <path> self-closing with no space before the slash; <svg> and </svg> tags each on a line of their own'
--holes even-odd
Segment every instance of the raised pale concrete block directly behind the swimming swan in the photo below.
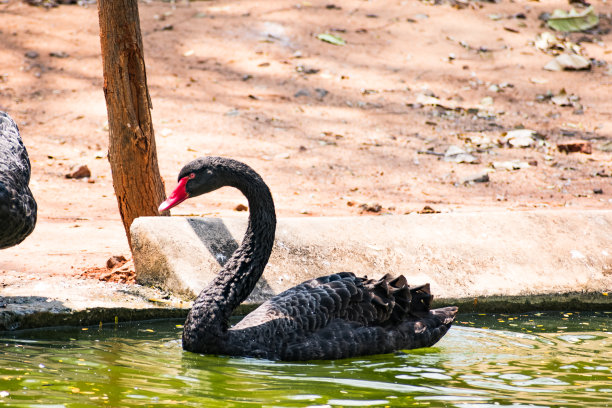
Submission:
<svg viewBox="0 0 612 408">
<path fill-rule="evenodd" d="M 195 296 L 238 246 L 246 223 L 246 218 L 135 220 L 137 279 Z M 268 267 L 248 302 L 339 271 L 404 274 L 415 285 L 430 282 L 438 299 L 609 292 L 612 211 L 283 218 Z"/>
</svg>

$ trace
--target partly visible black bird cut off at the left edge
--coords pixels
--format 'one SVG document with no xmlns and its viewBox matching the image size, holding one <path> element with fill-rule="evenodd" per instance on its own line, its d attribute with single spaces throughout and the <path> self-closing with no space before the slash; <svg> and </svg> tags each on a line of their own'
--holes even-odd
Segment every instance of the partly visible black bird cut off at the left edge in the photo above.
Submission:
<svg viewBox="0 0 612 408">
<path fill-rule="evenodd" d="M 36 201 L 28 187 L 30 159 L 19 128 L 0 112 L 0 249 L 19 244 L 36 225 Z"/>
</svg>

